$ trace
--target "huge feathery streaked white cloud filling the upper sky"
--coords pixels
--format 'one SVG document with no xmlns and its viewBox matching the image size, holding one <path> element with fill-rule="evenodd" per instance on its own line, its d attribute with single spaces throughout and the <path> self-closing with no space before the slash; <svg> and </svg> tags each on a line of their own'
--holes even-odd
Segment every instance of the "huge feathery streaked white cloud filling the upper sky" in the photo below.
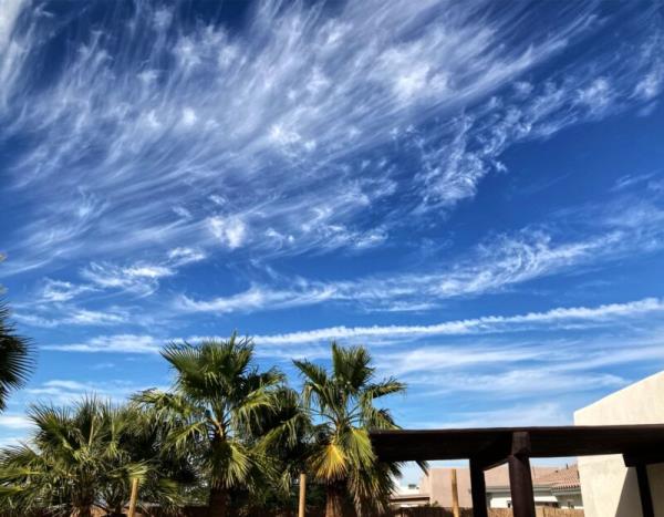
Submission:
<svg viewBox="0 0 664 517">
<path fill-rule="evenodd" d="M 517 33 L 535 11 L 425 1 L 333 13 L 261 2 L 242 28 L 251 39 L 141 3 L 72 41 L 33 94 L 18 84 L 39 82 L 35 63 L 61 28 L 48 7 L 9 3 L 4 48 L 27 46 L 20 60 L 0 52 L 18 77 L 3 85 L 2 137 L 33 138 L 7 167 L 42 201 L 17 226 L 28 237 L 14 239 L 8 272 L 137 249 L 154 259 L 175 246 L 270 255 L 382 245 L 395 221 L 416 225 L 473 196 L 515 142 L 658 92 L 653 60 L 626 59 L 656 41 L 647 12 L 633 20 L 639 52 L 594 49 L 593 66 L 574 61 L 528 85 L 526 72 L 601 30 L 592 3 Z M 521 87 L 504 87 L 517 79 Z M 405 175 L 395 146 L 414 164 Z M 385 199 L 398 200 L 398 215 Z"/>
</svg>

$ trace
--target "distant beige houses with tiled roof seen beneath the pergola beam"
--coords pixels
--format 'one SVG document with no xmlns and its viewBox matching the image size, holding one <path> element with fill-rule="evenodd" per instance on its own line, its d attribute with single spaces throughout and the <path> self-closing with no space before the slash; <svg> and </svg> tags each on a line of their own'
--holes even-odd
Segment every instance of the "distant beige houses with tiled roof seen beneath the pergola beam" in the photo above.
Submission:
<svg viewBox="0 0 664 517">
<path fill-rule="evenodd" d="M 556 508 L 583 508 L 579 469 L 577 465 L 564 467 L 532 468 L 532 485 L 537 506 Z M 393 496 L 393 506 L 437 505 L 452 507 L 452 471 L 450 467 L 429 468 L 419 485 L 401 488 Z M 470 473 L 466 467 L 457 467 L 457 493 L 460 507 L 471 507 Z M 506 466 L 485 472 L 487 485 L 487 505 L 490 508 L 509 508 L 511 495 L 509 473 Z"/>
</svg>

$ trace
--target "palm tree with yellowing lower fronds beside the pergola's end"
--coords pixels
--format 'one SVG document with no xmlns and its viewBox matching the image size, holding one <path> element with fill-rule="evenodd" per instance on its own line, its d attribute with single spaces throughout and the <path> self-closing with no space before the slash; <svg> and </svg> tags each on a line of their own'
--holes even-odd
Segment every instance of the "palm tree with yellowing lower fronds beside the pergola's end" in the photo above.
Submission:
<svg viewBox="0 0 664 517">
<path fill-rule="evenodd" d="M 347 504 L 361 516 L 384 511 L 398 465 L 376 461 L 369 430 L 397 427 L 374 401 L 402 393 L 405 385 L 392 378 L 375 381 L 371 355 L 362 347 L 333 342 L 331 372 L 309 361 L 293 363 L 304 380 L 303 402 L 318 423 L 309 463 L 326 488 L 325 516 L 343 516 Z"/>
</svg>

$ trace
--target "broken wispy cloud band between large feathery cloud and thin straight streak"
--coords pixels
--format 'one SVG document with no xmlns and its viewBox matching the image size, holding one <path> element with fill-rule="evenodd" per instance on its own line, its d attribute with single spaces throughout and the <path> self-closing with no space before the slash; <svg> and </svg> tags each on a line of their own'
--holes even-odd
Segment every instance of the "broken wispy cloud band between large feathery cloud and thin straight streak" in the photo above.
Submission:
<svg viewBox="0 0 664 517">
<path fill-rule="evenodd" d="M 564 235 L 556 230 L 558 219 L 566 221 Z M 435 270 L 407 272 L 402 269 L 353 280 L 321 281 L 287 277 L 267 267 L 267 278 L 251 281 L 245 290 L 211 299 L 198 299 L 189 293 L 177 296 L 169 307 L 162 309 L 162 320 L 188 312 L 221 316 L 321 303 L 354 306 L 367 312 L 433 311 L 449 299 L 505 292 L 552 275 L 579 273 L 587 267 L 610 265 L 636 250 L 641 254 L 661 250 L 664 247 L 662 221 L 664 210 L 658 201 L 626 197 L 609 205 L 566 209 L 550 220 L 548 231 L 523 229 L 496 236 L 458 257 L 448 257 L 447 263 Z M 570 231 L 574 227 L 578 230 Z M 577 235 L 582 237 L 574 240 L 572 237 Z M 71 303 L 66 307 L 44 303 L 107 292 L 148 296 L 157 290 L 160 280 L 205 258 L 206 254 L 199 249 L 176 247 L 160 261 L 125 266 L 92 263 L 81 271 L 87 283 L 46 279 L 42 296 L 37 299 L 37 309 L 31 313 L 21 310 L 19 317 L 25 323 L 41 327 L 53 327 L 58 321 L 121 323 L 126 321 L 127 311 L 116 307 L 110 307 L 103 314 L 98 308 L 84 310 Z M 27 303 L 25 307 L 35 306 Z M 44 307 L 46 310 L 42 310 Z M 483 322 L 476 324 L 479 328 Z"/>
</svg>

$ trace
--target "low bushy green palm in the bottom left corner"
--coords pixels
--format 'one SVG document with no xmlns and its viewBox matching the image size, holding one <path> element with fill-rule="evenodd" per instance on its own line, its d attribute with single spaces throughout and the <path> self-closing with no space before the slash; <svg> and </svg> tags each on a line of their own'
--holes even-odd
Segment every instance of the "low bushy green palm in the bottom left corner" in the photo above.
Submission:
<svg viewBox="0 0 664 517">
<path fill-rule="evenodd" d="M 164 477 L 159 456 L 136 448 L 145 432 L 132 407 L 94 397 L 74 409 L 32 406 L 37 426 L 30 443 L 0 453 L 0 508 L 28 515 L 90 517 L 94 507 L 120 516 L 134 478 L 155 503 L 178 504 L 178 487 Z"/>
</svg>

